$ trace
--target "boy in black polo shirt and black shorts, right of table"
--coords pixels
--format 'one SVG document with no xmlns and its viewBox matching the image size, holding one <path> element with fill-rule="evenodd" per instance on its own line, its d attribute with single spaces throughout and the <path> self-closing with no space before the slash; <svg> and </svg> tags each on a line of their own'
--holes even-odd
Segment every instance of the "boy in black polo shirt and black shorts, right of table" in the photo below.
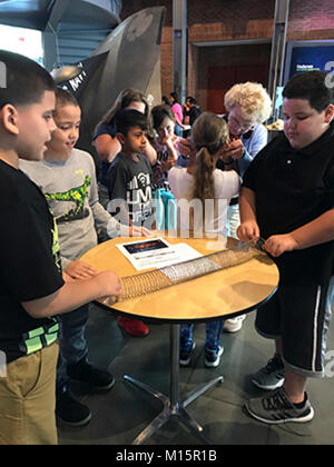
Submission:
<svg viewBox="0 0 334 467">
<path fill-rule="evenodd" d="M 266 239 L 279 269 L 276 295 L 256 317 L 276 354 L 253 382 L 277 389 L 246 408 L 269 424 L 310 421 L 307 377 L 324 377 L 326 332 L 333 302 L 334 90 L 321 71 L 286 85 L 284 135 L 254 159 L 240 195 L 243 241 Z"/>
</svg>

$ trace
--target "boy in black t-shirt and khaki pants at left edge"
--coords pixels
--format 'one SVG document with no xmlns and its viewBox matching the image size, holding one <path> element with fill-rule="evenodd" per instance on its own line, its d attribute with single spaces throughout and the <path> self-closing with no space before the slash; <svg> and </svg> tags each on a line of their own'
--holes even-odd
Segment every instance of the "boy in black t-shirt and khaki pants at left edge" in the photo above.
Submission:
<svg viewBox="0 0 334 467">
<path fill-rule="evenodd" d="M 40 160 L 56 129 L 55 83 L 36 62 L 0 50 L 0 445 L 57 444 L 58 314 L 119 295 L 112 271 L 85 281 L 61 274 L 57 225 L 40 189 L 18 169 Z"/>
</svg>

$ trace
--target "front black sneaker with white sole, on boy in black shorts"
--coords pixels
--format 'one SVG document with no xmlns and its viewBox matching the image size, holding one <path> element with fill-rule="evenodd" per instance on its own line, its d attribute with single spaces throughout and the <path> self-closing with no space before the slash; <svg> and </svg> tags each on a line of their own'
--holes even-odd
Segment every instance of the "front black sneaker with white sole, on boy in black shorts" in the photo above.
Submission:
<svg viewBox="0 0 334 467">
<path fill-rule="evenodd" d="M 293 404 L 283 388 L 273 391 L 267 397 L 250 399 L 245 404 L 245 407 L 252 417 L 272 425 L 287 421 L 304 424 L 314 417 L 314 410 L 306 393 L 304 403 Z"/>
</svg>

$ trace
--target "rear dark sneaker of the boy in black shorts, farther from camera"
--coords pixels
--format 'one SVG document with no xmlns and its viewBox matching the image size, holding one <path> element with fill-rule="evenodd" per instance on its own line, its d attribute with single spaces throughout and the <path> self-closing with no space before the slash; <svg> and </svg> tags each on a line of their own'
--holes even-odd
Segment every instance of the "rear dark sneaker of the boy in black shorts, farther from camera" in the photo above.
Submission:
<svg viewBox="0 0 334 467">
<path fill-rule="evenodd" d="M 284 384 L 284 362 L 281 356 L 275 354 L 264 368 L 252 376 L 252 382 L 265 390 L 281 388 Z"/>
</svg>

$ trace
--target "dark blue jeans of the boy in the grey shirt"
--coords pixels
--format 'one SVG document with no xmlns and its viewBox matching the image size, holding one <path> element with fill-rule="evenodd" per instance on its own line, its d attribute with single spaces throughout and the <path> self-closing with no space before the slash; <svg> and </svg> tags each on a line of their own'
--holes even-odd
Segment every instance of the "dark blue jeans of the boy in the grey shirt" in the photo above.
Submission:
<svg viewBox="0 0 334 467">
<path fill-rule="evenodd" d="M 87 357 L 88 346 L 85 338 L 85 329 L 88 318 L 88 304 L 61 316 L 59 358 L 57 365 L 58 389 L 68 384 L 68 365 L 76 365 Z"/>
</svg>

